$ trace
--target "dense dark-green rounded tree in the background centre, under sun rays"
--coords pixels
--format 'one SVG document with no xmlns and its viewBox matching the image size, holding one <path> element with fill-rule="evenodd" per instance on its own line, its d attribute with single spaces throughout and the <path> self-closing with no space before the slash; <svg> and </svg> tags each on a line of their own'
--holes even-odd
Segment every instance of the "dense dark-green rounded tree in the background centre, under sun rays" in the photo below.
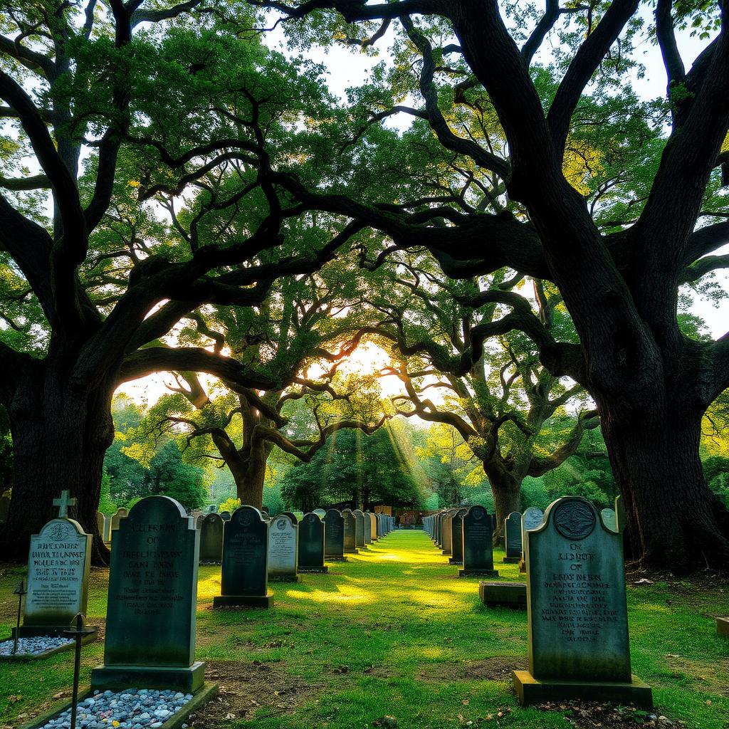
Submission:
<svg viewBox="0 0 729 729">
<path fill-rule="evenodd" d="M 341 430 L 307 464 L 286 473 L 281 496 L 289 506 L 310 511 L 348 502 L 420 507 L 424 501 L 410 466 L 402 424 L 388 423 L 373 434 Z"/>
</svg>

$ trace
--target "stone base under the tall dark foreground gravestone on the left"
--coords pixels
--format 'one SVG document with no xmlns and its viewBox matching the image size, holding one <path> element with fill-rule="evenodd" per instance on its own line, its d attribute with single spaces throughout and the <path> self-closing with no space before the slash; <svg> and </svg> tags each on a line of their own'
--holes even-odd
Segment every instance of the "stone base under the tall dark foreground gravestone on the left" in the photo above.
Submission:
<svg viewBox="0 0 729 729">
<path fill-rule="evenodd" d="M 205 683 L 205 663 L 192 666 L 97 666 L 91 669 L 91 687 L 100 691 L 121 690 L 130 686 L 176 689 L 195 693 Z"/>
</svg>

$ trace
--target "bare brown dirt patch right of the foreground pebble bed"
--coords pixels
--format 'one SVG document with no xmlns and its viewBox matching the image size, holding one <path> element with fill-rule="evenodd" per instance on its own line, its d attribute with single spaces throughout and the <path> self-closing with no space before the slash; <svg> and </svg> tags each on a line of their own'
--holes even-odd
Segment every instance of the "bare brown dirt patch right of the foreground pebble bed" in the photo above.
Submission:
<svg viewBox="0 0 729 729">
<path fill-rule="evenodd" d="M 190 727 L 199 729 L 227 728 L 231 720 L 250 720 L 260 709 L 268 709 L 268 715 L 291 714 L 321 688 L 276 665 L 258 661 L 208 660 L 205 677 L 218 684 L 219 693 L 190 717 Z"/>
</svg>

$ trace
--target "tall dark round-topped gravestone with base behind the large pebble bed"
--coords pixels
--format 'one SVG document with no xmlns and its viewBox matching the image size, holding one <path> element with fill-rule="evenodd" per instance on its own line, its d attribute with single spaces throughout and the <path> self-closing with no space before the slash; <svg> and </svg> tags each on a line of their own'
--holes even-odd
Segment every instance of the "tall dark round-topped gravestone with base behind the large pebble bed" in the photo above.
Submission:
<svg viewBox="0 0 729 729">
<path fill-rule="evenodd" d="M 91 686 L 165 687 L 194 693 L 205 664 L 195 662 L 200 532 L 168 496 L 134 504 L 112 536 L 104 666 Z"/>
</svg>

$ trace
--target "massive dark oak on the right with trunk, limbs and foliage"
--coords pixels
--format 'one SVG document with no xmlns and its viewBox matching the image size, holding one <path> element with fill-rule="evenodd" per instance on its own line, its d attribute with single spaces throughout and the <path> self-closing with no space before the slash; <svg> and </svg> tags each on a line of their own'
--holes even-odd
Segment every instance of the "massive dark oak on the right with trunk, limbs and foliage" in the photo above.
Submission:
<svg viewBox="0 0 729 729">
<path fill-rule="evenodd" d="M 292 44 L 391 42 L 393 61 L 351 90 L 343 130 L 362 154 L 378 149 L 379 184 L 347 195 L 336 164 L 329 186 L 285 171 L 281 184 L 388 236 L 369 249 L 373 267 L 424 246 L 454 279 L 507 266 L 555 284 L 579 342 L 510 303 L 499 328 L 526 332 L 553 377 L 593 396 L 635 553 L 674 571 L 703 555 L 726 566 L 729 512 L 706 485 L 699 444 L 704 411 L 729 386 L 729 335 L 691 338 L 677 312 L 680 286 L 729 264 L 712 255 L 729 236 L 726 4 L 658 0 L 652 20 L 638 0 L 544 11 L 495 0 L 249 4 L 280 14 Z M 675 36 L 685 26 L 705 39 L 691 69 Z M 666 95 L 651 103 L 628 72 L 640 74 L 641 33 L 666 69 Z M 415 118 L 399 140 L 379 125 L 393 114 Z M 472 351 L 480 342 L 472 332 Z"/>
</svg>

